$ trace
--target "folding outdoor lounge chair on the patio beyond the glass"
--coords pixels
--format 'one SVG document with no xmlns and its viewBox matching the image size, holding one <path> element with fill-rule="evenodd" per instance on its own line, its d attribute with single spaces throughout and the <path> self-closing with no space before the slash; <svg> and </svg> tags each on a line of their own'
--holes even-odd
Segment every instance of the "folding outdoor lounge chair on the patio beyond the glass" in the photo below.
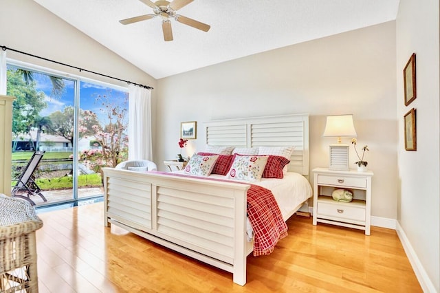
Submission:
<svg viewBox="0 0 440 293">
<path fill-rule="evenodd" d="M 38 185 L 36 185 L 34 179 L 32 178 L 32 174 L 36 169 L 36 166 L 39 165 L 41 158 L 43 158 L 44 151 L 36 151 L 30 158 L 28 165 L 23 169 L 21 175 L 17 180 L 17 184 L 12 188 L 11 195 L 12 197 L 20 197 L 26 199 L 32 206 L 35 205 L 34 201 L 30 199 L 31 195 L 39 195 L 43 201 L 47 202 L 47 199 L 41 193 L 41 189 Z"/>
</svg>

